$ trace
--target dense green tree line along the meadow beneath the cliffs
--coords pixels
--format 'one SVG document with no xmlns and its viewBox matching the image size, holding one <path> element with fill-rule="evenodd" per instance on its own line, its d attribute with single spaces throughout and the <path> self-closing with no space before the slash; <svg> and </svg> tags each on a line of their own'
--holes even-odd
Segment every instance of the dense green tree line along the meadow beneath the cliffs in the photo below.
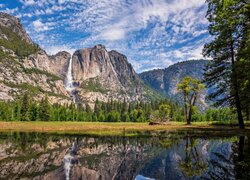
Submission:
<svg viewBox="0 0 250 180">
<path fill-rule="evenodd" d="M 192 108 L 191 121 L 228 122 L 235 118 L 229 108 L 208 109 L 201 112 Z M 83 121 L 83 122 L 166 122 L 186 121 L 184 108 L 169 99 L 150 102 L 95 101 L 92 109 L 75 104 L 50 104 L 45 96 L 35 101 L 27 93 L 13 102 L 0 102 L 1 121 Z"/>
</svg>

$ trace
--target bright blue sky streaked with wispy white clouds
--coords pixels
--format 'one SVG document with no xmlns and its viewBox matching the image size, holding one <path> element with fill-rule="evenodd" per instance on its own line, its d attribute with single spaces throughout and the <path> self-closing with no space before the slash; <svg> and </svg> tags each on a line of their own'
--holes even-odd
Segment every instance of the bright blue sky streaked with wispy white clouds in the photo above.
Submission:
<svg viewBox="0 0 250 180">
<path fill-rule="evenodd" d="M 103 44 L 138 73 L 203 58 L 206 10 L 205 0 L 0 0 L 48 54 Z"/>
</svg>

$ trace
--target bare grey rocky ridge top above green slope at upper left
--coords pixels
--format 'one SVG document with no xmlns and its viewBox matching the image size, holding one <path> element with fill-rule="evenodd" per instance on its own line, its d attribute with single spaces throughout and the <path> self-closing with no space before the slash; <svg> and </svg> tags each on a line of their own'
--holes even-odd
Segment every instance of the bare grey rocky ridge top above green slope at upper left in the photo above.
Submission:
<svg viewBox="0 0 250 180">
<path fill-rule="evenodd" d="M 20 23 L 20 19 L 11 16 L 9 14 L 0 12 L 0 26 L 10 29 L 13 33 L 17 34 L 25 42 L 33 44 L 31 38 L 26 33 L 23 25 Z M 1 34 L 1 32 L 0 32 Z"/>
</svg>

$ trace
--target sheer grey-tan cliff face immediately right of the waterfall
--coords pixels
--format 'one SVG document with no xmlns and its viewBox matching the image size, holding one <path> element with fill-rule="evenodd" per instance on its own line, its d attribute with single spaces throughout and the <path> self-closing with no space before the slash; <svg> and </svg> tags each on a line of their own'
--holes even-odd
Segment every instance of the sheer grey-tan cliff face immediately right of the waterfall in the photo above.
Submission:
<svg viewBox="0 0 250 180">
<path fill-rule="evenodd" d="M 73 79 L 83 101 L 149 98 L 145 85 L 126 56 L 116 51 L 108 52 L 103 45 L 96 45 L 77 50 L 72 58 Z"/>
</svg>

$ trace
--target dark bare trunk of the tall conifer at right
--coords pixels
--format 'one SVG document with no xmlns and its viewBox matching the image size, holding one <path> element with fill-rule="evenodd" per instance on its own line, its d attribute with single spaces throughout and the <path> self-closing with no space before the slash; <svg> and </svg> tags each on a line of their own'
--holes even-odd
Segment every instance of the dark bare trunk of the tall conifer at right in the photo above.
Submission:
<svg viewBox="0 0 250 180">
<path fill-rule="evenodd" d="M 231 58 L 232 58 L 232 84 L 233 84 L 233 90 L 234 90 L 234 99 L 235 99 L 235 105 L 238 115 L 238 122 L 240 129 L 244 129 L 244 121 L 242 116 L 242 109 L 241 109 L 241 103 L 240 103 L 240 96 L 239 96 L 239 87 L 238 87 L 238 77 L 237 77 L 237 71 L 235 70 L 235 60 L 234 60 L 234 49 L 231 45 Z"/>
</svg>

